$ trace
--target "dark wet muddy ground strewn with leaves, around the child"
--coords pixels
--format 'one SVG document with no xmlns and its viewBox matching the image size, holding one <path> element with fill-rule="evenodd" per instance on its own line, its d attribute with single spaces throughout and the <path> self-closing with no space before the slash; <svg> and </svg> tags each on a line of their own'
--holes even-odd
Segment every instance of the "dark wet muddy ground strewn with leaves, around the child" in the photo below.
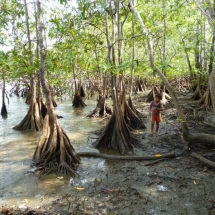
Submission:
<svg viewBox="0 0 215 215">
<path fill-rule="evenodd" d="M 190 95 L 179 95 L 184 107 L 195 107 Z M 134 99 L 138 110 L 145 115 L 149 103 L 143 97 Z M 200 119 L 212 120 L 211 110 L 201 111 L 193 116 L 192 110 L 186 110 L 186 117 L 192 132 L 213 133 L 214 128 L 201 123 Z M 175 151 L 180 153 L 184 146 L 177 113 L 170 102 L 165 105 L 163 122 L 158 135 L 149 136 L 149 119 L 144 119 L 146 130 L 135 132 L 141 147 L 135 149 L 137 155 L 153 155 Z M 193 145 L 192 150 L 207 154 L 211 159 L 215 149 L 204 145 Z M 94 158 L 82 158 L 84 163 L 92 163 Z M 44 192 L 37 196 L 38 206 L 31 207 L 25 200 L 20 205 L 2 205 L 2 214 L 61 214 L 61 215 L 213 215 L 215 214 L 214 170 L 189 156 L 163 159 L 159 162 L 108 161 L 106 168 L 96 168 L 85 174 L 92 180 L 83 178 L 70 180 L 67 192 L 49 196 Z M 79 168 L 82 171 L 82 167 Z M 29 177 L 31 174 L 29 173 Z M 96 177 L 95 177 L 96 176 Z M 66 176 L 57 177 L 59 182 Z M 42 177 L 41 177 L 41 180 Z M 62 183 L 62 186 L 65 184 Z M 33 186 L 33 185 L 32 185 Z M 45 201 L 48 199 L 48 201 Z"/>
</svg>

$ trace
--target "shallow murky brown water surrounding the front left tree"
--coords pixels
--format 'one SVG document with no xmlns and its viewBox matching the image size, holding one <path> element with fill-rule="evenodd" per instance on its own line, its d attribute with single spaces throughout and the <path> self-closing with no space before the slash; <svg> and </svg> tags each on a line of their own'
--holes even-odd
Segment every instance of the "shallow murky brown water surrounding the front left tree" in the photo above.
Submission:
<svg viewBox="0 0 215 215">
<path fill-rule="evenodd" d="M 1 102 L 1 100 L 0 100 Z M 72 101 L 58 102 L 56 112 L 63 116 L 60 124 L 69 136 L 76 151 L 96 151 L 88 136 L 101 127 L 101 119 L 86 118 L 96 101 L 86 101 L 87 107 L 73 108 Z M 23 98 L 11 97 L 7 105 L 8 118 L 0 118 L 0 202 L 9 205 L 36 207 L 48 204 L 50 196 L 74 192 L 73 186 L 85 186 L 98 177 L 97 171 L 104 170 L 106 163 L 100 159 L 82 159 L 77 172 L 80 178 L 52 174 L 38 178 L 31 172 L 31 160 L 41 132 L 20 132 L 12 128 L 27 113 L 28 106 Z M 23 206 L 23 207 L 24 207 Z"/>
</svg>

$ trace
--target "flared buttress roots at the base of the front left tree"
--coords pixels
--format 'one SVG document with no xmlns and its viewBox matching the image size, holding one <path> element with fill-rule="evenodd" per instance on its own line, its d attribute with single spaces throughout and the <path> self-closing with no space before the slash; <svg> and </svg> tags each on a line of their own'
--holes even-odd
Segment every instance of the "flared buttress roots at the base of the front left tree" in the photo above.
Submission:
<svg viewBox="0 0 215 215">
<path fill-rule="evenodd" d="M 43 135 L 36 148 L 33 165 L 40 174 L 57 172 L 75 175 L 80 158 L 63 129 L 46 115 Z"/>
</svg>

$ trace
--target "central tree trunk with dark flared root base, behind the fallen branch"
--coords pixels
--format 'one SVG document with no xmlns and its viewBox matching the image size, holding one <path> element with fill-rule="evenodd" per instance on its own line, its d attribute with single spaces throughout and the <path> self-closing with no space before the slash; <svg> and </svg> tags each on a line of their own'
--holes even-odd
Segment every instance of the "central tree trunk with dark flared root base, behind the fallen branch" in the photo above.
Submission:
<svg viewBox="0 0 215 215">
<path fill-rule="evenodd" d="M 118 0 L 117 0 L 118 1 Z M 107 6 L 107 0 L 104 0 Z M 116 2 L 115 6 L 118 5 Z M 109 3 L 111 21 L 112 21 L 112 45 L 109 40 L 109 30 L 108 30 L 108 13 L 106 12 L 106 39 L 108 46 L 108 61 L 116 67 L 115 60 L 115 16 L 113 14 L 113 8 L 111 3 Z M 128 151 L 133 151 L 134 139 L 128 130 L 128 127 L 124 120 L 124 113 L 120 108 L 120 102 L 118 99 L 117 87 L 116 87 L 116 75 L 111 72 L 111 89 L 112 89 L 112 99 L 113 99 L 113 114 L 100 137 L 93 143 L 95 148 L 105 148 L 113 149 L 118 151 L 120 154 L 125 154 Z"/>
</svg>

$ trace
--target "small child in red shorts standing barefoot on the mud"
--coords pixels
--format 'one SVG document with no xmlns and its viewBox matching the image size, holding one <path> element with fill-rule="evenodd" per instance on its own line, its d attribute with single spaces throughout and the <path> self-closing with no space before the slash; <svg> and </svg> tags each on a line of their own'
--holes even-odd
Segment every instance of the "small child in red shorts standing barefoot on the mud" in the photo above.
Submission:
<svg viewBox="0 0 215 215">
<path fill-rule="evenodd" d="M 159 130 L 160 123 L 160 111 L 163 111 L 164 107 L 161 103 L 162 96 L 161 94 L 156 94 L 154 101 L 150 104 L 150 113 L 151 113 L 151 135 L 157 134 Z M 156 122 L 156 130 L 154 132 L 154 124 Z"/>
</svg>

